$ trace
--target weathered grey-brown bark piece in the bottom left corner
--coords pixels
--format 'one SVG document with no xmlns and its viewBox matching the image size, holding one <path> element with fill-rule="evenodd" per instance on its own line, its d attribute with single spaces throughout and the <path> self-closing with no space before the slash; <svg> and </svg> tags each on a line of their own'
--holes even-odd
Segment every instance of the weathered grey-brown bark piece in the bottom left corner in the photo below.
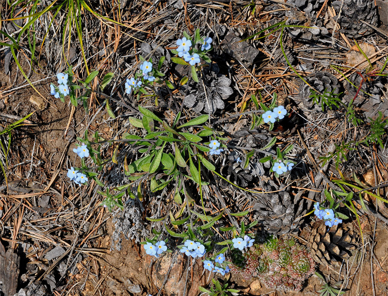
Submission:
<svg viewBox="0 0 388 296">
<path fill-rule="evenodd" d="M 17 291 L 20 258 L 13 249 L 6 252 L 0 242 L 0 281 L 3 283 L 2 292 L 5 296 L 12 296 Z"/>
</svg>

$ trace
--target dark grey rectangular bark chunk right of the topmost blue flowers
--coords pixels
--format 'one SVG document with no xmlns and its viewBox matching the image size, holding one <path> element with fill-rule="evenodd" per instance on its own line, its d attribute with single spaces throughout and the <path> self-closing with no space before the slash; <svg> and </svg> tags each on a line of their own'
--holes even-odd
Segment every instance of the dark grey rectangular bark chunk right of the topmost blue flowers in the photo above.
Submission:
<svg viewBox="0 0 388 296">
<path fill-rule="evenodd" d="M 228 55 L 238 59 L 239 62 L 243 62 L 245 66 L 252 66 L 258 60 L 260 51 L 241 40 L 235 34 L 229 32 L 220 44 L 221 49 Z"/>
</svg>

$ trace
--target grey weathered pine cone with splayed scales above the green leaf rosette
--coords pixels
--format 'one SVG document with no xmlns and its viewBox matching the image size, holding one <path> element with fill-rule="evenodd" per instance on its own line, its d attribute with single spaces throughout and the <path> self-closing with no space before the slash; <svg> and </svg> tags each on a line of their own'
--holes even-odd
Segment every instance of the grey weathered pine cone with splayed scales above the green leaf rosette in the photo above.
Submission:
<svg viewBox="0 0 388 296">
<path fill-rule="evenodd" d="M 219 72 L 217 64 L 204 68 L 202 77 L 198 77 L 199 82 L 192 82 L 187 86 L 189 94 L 183 100 L 183 105 L 193 108 L 196 113 L 204 110 L 206 114 L 213 114 L 217 109 L 223 110 L 224 100 L 233 94 L 233 89 L 229 87 L 232 81 Z"/>
</svg>

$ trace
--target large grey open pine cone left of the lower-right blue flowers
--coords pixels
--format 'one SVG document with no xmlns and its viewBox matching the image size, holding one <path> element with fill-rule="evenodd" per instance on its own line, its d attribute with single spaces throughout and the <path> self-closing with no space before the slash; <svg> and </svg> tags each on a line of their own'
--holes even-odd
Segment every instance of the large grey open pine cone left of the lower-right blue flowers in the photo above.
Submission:
<svg viewBox="0 0 388 296">
<path fill-rule="evenodd" d="M 260 187 L 265 191 L 279 189 L 275 182 L 260 180 Z M 256 195 L 253 203 L 255 220 L 259 220 L 268 233 L 286 234 L 296 231 L 304 222 L 297 219 L 307 213 L 311 207 L 311 201 L 301 197 L 301 193 L 291 197 L 287 191 Z"/>
</svg>

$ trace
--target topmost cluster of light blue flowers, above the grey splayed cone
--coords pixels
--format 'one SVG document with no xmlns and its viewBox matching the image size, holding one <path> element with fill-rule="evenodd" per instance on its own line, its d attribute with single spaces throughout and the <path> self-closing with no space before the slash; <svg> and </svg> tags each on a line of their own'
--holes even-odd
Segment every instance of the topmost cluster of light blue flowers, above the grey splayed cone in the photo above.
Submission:
<svg viewBox="0 0 388 296">
<path fill-rule="evenodd" d="M 210 37 L 204 37 L 199 40 L 201 43 L 201 51 L 208 51 L 211 49 L 211 42 L 213 42 L 213 39 Z M 191 48 L 193 43 L 192 40 L 183 37 L 182 39 L 177 40 L 177 52 L 179 57 L 183 57 L 183 59 L 188 62 L 191 66 L 195 66 L 195 64 L 198 64 L 201 62 L 200 60 L 200 54 L 201 52 L 196 52 L 195 48 Z"/>
</svg>

